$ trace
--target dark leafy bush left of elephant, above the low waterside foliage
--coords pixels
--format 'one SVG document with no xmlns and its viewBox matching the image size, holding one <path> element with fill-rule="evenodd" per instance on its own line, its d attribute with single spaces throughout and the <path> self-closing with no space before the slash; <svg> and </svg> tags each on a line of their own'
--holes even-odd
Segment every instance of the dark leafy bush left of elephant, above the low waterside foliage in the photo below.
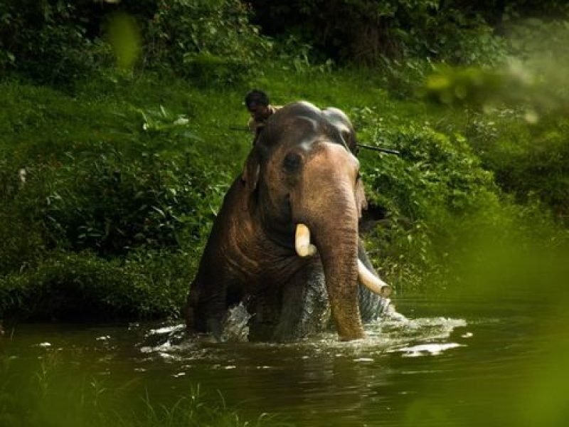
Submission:
<svg viewBox="0 0 569 427">
<path fill-rule="evenodd" d="M 189 154 L 162 159 L 149 150 L 126 161 L 102 145 L 68 157 L 29 165 L 17 196 L 22 215 L 41 223 L 50 247 L 124 255 L 132 248 L 179 248 L 181 234 L 201 233 L 207 177 Z"/>
</svg>

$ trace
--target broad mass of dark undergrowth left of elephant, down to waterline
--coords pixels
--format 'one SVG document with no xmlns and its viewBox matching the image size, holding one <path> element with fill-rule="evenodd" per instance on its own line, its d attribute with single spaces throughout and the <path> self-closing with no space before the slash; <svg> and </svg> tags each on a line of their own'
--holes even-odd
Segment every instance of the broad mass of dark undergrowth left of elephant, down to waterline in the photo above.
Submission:
<svg viewBox="0 0 569 427">
<path fill-rule="evenodd" d="M 223 193 L 195 147 L 164 152 L 187 121 L 133 110 L 119 142 L 28 159 L 25 181 L 2 153 L 0 317 L 178 315 Z"/>
</svg>

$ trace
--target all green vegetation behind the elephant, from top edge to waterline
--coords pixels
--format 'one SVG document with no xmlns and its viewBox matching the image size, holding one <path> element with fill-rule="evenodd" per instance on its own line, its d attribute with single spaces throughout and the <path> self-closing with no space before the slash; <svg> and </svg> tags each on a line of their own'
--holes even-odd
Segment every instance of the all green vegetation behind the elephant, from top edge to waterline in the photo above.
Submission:
<svg viewBox="0 0 569 427">
<path fill-rule="evenodd" d="M 252 87 L 401 152 L 360 154 L 398 292 L 474 292 L 497 254 L 565 250 L 567 7 L 323 3 L 2 2 L 0 318 L 176 317 Z"/>
</svg>

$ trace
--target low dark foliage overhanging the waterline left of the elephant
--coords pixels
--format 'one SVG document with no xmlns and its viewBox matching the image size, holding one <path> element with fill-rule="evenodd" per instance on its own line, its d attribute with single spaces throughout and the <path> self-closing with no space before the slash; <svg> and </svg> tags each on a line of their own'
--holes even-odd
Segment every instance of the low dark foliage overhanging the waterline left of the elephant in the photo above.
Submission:
<svg viewBox="0 0 569 427">
<path fill-rule="evenodd" d="M 145 262 L 123 263 L 88 252 L 52 251 L 20 272 L 0 276 L 0 313 L 18 320 L 176 317 L 191 279 L 188 263 L 166 251 L 150 254 Z"/>
</svg>

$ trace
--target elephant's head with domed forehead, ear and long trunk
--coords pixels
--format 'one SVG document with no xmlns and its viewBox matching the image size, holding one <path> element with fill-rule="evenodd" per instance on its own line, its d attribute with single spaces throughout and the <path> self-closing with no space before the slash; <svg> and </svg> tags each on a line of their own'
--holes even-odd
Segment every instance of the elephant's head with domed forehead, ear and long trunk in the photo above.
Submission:
<svg viewBox="0 0 569 427">
<path fill-rule="evenodd" d="M 345 129 L 326 111 L 295 102 L 268 120 L 245 165 L 243 179 L 250 196 L 244 208 L 257 216 L 267 236 L 283 246 L 294 247 L 298 228 L 300 256 L 314 255 L 307 238 L 307 231 L 311 233 L 339 335 L 358 339 L 363 337 L 357 290 L 358 219 L 366 198 L 358 159 L 348 146 L 354 139 L 342 135 Z"/>
</svg>

